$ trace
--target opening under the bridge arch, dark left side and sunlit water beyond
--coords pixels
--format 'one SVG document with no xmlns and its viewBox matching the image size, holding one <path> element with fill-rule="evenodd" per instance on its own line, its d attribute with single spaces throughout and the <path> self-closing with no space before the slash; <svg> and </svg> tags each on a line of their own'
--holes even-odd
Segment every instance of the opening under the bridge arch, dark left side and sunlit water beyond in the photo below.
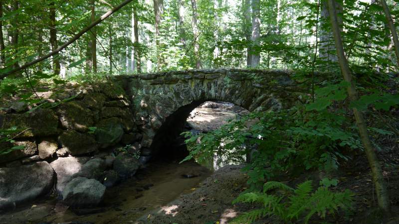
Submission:
<svg viewBox="0 0 399 224">
<path fill-rule="evenodd" d="M 194 101 L 183 106 L 169 115 L 157 130 L 151 145 L 154 159 L 181 161 L 189 154 L 185 143 L 186 139 L 181 135 L 182 132 L 206 133 L 227 123 L 228 119 L 248 112 L 248 110 L 232 103 L 216 100 Z M 243 159 L 245 160 L 245 158 Z M 228 161 L 223 161 L 220 155 L 215 155 L 214 158 L 209 158 L 209 160 L 212 160 L 209 161 L 209 164 L 201 165 L 216 168 L 218 167 L 216 163 L 229 164 Z"/>
</svg>

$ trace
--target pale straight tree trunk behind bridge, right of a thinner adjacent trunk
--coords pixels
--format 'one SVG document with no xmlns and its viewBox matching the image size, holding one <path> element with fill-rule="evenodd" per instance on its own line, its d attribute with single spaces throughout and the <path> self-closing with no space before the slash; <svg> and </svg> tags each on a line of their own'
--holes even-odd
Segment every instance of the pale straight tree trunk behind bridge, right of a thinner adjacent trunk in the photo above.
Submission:
<svg viewBox="0 0 399 224">
<path fill-rule="evenodd" d="M 252 0 L 252 36 L 251 41 L 255 49 L 253 49 L 251 66 L 257 67 L 260 62 L 260 0 Z"/>
</svg>

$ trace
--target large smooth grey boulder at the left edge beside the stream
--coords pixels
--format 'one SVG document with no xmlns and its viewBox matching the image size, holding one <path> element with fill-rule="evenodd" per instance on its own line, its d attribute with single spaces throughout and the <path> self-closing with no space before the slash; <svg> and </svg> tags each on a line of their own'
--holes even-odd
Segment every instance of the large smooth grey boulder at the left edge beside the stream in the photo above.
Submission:
<svg viewBox="0 0 399 224">
<path fill-rule="evenodd" d="M 54 183 L 54 171 L 45 162 L 13 168 L 0 168 L 0 210 L 46 194 Z"/>
</svg>

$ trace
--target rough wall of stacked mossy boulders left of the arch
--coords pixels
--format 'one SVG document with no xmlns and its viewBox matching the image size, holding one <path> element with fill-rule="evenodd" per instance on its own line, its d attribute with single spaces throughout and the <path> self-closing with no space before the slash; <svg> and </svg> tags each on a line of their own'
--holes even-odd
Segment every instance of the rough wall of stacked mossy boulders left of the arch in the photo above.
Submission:
<svg viewBox="0 0 399 224">
<path fill-rule="evenodd" d="M 8 102 L 0 112 L 0 128 L 19 132 L 0 147 L 23 146 L 0 155 L 0 211 L 49 193 L 53 184 L 68 205 L 95 206 L 106 187 L 135 174 L 142 135 L 119 84 L 107 80 L 38 94 L 46 104 L 36 110 Z"/>
</svg>

